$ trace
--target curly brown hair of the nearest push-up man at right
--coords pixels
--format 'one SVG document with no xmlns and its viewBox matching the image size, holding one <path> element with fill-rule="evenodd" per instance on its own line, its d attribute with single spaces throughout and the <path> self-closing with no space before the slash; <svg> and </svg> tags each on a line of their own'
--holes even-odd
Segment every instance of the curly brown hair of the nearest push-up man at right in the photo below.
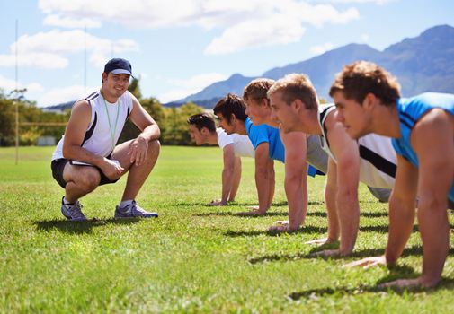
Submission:
<svg viewBox="0 0 454 314">
<path fill-rule="evenodd" d="M 346 99 L 360 104 L 370 92 L 381 100 L 383 105 L 393 106 L 400 98 L 400 85 L 396 77 L 384 68 L 371 62 L 356 61 L 345 65 L 343 71 L 336 75 L 329 95 L 333 97 L 335 92 L 343 92 Z"/>
</svg>

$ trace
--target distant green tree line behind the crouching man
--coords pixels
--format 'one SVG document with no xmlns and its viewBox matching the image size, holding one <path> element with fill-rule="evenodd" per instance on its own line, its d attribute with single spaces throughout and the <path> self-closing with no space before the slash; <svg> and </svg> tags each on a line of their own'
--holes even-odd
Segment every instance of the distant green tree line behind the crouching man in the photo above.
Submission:
<svg viewBox="0 0 454 314">
<path fill-rule="evenodd" d="M 204 109 L 194 103 L 186 103 L 179 108 L 166 108 L 156 98 L 142 98 L 137 79 L 129 84 L 129 92 L 134 94 L 147 112 L 156 120 L 161 129 L 161 144 L 192 144 L 187 118 Z M 0 146 L 15 144 L 15 106 L 19 109 L 19 142 L 21 145 L 34 145 L 40 136 L 54 136 L 57 141 L 65 133 L 71 110 L 62 113 L 46 112 L 36 106 L 35 101 L 26 100 L 25 90 L 12 97 L 0 90 Z M 61 126 L 58 126 L 61 124 Z M 139 130 L 128 121 L 120 135 L 119 143 L 135 138 Z"/>
</svg>

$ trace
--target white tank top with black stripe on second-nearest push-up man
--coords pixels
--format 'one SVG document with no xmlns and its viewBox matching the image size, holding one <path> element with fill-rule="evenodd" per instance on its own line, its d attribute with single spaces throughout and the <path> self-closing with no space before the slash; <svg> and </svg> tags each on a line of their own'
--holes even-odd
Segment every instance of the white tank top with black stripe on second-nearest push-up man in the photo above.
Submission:
<svg viewBox="0 0 454 314">
<path fill-rule="evenodd" d="M 334 104 L 318 106 L 318 123 L 322 128 L 322 148 L 337 163 L 326 137 L 325 120 L 335 109 Z M 376 134 L 357 140 L 360 149 L 360 181 L 371 188 L 393 188 L 396 179 L 397 157 L 391 138 Z"/>
</svg>

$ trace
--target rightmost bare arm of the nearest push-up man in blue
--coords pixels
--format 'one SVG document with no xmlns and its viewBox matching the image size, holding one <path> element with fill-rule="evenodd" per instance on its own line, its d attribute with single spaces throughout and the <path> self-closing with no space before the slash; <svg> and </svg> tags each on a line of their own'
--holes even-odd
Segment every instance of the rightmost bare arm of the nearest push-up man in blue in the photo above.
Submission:
<svg viewBox="0 0 454 314">
<path fill-rule="evenodd" d="M 418 223 L 423 239 L 423 274 L 419 284 L 441 280 L 448 255 L 450 226 L 447 198 L 454 178 L 454 117 L 433 109 L 414 126 L 411 144 L 418 156 Z"/>
</svg>

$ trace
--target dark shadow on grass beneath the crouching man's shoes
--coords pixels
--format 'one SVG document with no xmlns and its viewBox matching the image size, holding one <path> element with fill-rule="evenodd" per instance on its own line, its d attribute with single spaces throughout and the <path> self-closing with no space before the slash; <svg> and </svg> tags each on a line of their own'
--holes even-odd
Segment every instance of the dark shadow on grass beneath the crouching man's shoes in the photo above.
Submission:
<svg viewBox="0 0 454 314">
<path fill-rule="evenodd" d="M 51 231 L 57 229 L 58 231 L 66 233 L 91 233 L 93 227 L 101 227 L 106 224 L 130 224 L 137 223 L 140 218 L 127 218 L 127 219 L 91 219 L 85 222 L 70 222 L 67 220 L 50 220 L 33 222 L 36 227 L 43 231 Z"/>
</svg>

